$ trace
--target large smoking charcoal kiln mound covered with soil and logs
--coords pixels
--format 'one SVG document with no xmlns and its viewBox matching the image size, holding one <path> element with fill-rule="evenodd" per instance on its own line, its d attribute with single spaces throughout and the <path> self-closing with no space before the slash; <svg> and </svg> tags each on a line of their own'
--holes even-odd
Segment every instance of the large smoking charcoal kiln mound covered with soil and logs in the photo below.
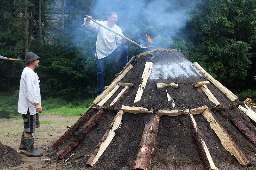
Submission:
<svg viewBox="0 0 256 170">
<path fill-rule="evenodd" d="M 256 168 L 255 112 L 176 50 L 132 57 L 49 155 L 74 169 Z"/>
</svg>

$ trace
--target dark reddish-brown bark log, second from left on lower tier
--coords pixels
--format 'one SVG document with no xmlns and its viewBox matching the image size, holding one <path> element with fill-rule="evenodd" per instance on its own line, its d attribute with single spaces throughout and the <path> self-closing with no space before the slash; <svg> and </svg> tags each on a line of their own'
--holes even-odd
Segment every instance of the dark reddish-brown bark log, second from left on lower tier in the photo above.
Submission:
<svg viewBox="0 0 256 170">
<path fill-rule="evenodd" d="M 80 143 L 82 140 L 84 140 L 87 133 L 89 133 L 92 128 L 97 124 L 100 120 L 100 118 L 105 114 L 104 110 L 100 109 L 97 113 L 95 113 L 90 120 L 84 125 L 82 129 L 79 129 L 74 134 L 74 139 L 70 141 L 68 144 L 66 144 L 59 153 L 57 153 L 57 156 L 60 159 L 64 159 L 70 152 L 72 152 Z"/>
</svg>

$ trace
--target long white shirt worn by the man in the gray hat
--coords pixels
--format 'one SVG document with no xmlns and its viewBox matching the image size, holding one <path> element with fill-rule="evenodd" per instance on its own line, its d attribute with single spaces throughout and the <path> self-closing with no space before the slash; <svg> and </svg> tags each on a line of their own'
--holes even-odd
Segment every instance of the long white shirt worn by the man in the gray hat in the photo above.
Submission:
<svg viewBox="0 0 256 170">
<path fill-rule="evenodd" d="M 35 115 L 38 103 L 41 103 L 39 78 L 31 68 L 25 67 L 20 78 L 18 112 L 27 114 L 29 108 L 30 115 Z"/>
</svg>

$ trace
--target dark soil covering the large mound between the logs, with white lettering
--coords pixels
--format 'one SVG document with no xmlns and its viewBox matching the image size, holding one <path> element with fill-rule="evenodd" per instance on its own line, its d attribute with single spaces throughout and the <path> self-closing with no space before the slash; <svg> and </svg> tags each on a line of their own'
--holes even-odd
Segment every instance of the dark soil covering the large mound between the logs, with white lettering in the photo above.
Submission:
<svg viewBox="0 0 256 170">
<path fill-rule="evenodd" d="M 109 104 L 116 98 L 122 90 L 121 88 L 118 89 L 102 107 L 120 110 L 122 105 L 126 105 L 148 109 L 172 110 L 193 109 L 206 105 L 212 111 L 218 110 L 216 109 L 216 105 L 208 99 L 200 88 L 194 87 L 197 82 L 208 80 L 196 70 L 193 64 L 187 60 L 181 52 L 176 50 L 156 49 L 142 53 L 139 56 L 140 57 L 137 57 L 136 61 L 132 63 L 133 68 L 121 80 L 123 83 L 133 83 L 134 86 L 131 87 L 128 93 L 115 106 L 110 107 Z M 142 82 L 141 76 L 147 61 L 153 62 L 152 72 L 143 91 L 141 100 L 137 103 L 133 103 L 139 85 Z M 170 86 L 164 89 L 156 89 L 156 83 L 171 82 L 178 83 L 178 89 L 173 89 Z M 207 87 L 222 106 L 228 106 L 232 103 L 232 101 L 211 82 Z M 174 99 L 175 107 L 172 107 L 172 103 L 168 103 L 166 90 L 172 99 Z M 240 103 L 239 100 L 236 102 Z M 86 135 L 81 144 L 64 160 L 58 159 L 56 153 L 59 152 L 64 145 L 68 144 L 73 137 L 68 139 L 60 148 L 49 152 L 48 156 L 51 156 L 53 161 L 57 163 L 61 162 L 62 166 L 66 168 L 72 166 L 73 169 L 84 168 L 92 170 L 132 169 L 144 125 L 148 120 L 148 114 L 124 113 L 122 124 L 120 128 L 115 131 L 116 136 L 105 152 L 92 167 L 89 168 L 89 166 L 85 165 L 115 116 L 115 112 L 106 112 L 99 123 Z M 219 109 L 213 112 L 213 116 L 216 121 L 225 128 L 236 145 L 250 160 L 251 166 L 249 167 L 252 169 L 256 168 L 256 146 L 250 142 L 231 121 L 234 118 L 238 119 L 253 133 L 256 133 L 256 128 L 251 120 L 236 107 L 231 110 Z M 210 124 L 202 114 L 194 115 L 194 117 L 199 128 L 199 133 L 204 139 L 216 167 L 220 169 L 246 168 L 221 145 L 220 139 L 211 129 Z M 84 124 L 80 125 L 80 128 L 82 128 L 83 125 Z M 150 169 L 204 169 L 193 141 L 192 124 L 187 115 L 160 117 Z"/>
</svg>

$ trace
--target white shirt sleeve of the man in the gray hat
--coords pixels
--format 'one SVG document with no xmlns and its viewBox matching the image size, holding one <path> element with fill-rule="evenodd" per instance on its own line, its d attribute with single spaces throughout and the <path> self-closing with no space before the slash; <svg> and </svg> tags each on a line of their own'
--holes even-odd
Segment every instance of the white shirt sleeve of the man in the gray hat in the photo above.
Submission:
<svg viewBox="0 0 256 170">
<path fill-rule="evenodd" d="M 36 89 L 36 80 L 35 78 L 33 78 L 33 74 L 28 72 L 27 74 L 25 74 L 25 81 L 26 81 L 26 87 L 27 87 L 27 98 L 28 100 L 35 106 L 38 103 L 40 103 L 40 94 L 38 94 L 38 90 Z"/>
</svg>

